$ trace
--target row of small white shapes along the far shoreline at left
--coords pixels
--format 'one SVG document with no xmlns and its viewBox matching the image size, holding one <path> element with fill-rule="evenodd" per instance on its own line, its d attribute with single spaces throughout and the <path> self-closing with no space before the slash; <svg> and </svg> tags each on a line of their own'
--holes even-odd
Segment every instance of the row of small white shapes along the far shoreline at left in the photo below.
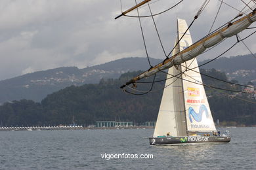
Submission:
<svg viewBox="0 0 256 170">
<path fill-rule="evenodd" d="M 0 131 L 39 131 L 39 130 L 56 130 L 56 129 L 83 129 L 83 126 L 30 126 L 30 127 L 0 127 Z"/>
</svg>

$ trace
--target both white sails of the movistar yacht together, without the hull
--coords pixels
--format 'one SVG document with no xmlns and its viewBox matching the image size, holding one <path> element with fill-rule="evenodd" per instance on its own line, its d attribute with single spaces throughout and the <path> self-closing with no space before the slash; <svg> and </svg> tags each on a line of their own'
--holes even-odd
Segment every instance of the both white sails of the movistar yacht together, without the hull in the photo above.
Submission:
<svg viewBox="0 0 256 170">
<path fill-rule="evenodd" d="M 185 20 L 178 19 L 178 37 L 179 39 L 188 28 Z M 177 42 L 175 42 L 176 44 Z M 182 37 L 178 47 L 173 50 L 173 55 L 179 53 L 192 44 L 190 32 Z M 160 110 L 158 112 L 158 120 L 154 131 L 154 137 L 172 135 L 186 136 L 188 132 L 193 131 L 215 131 L 215 125 L 211 116 L 211 110 L 205 90 L 202 85 L 192 82 L 202 83 L 202 78 L 199 69 L 194 71 L 186 71 L 181 78 L 171 75 L 178 75 L 181 70 L 186 67 L 194 68 L 198 66 L 196 58 L 186 61 L 179 66 L 179 69 L 171 67 L 168 70 L 165 89 L 161 99 Z M 189 80 L 190 82 L 188 82 Z"/>
</svg>

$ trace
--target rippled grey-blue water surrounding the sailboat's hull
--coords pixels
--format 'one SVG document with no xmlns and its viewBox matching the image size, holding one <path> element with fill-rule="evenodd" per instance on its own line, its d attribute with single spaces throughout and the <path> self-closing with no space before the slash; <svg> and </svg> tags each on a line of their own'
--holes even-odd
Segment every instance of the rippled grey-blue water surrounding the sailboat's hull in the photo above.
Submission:
<svg viewBox="0 0 256 170">
<path fill-rule="evenodd" d="M 230 143 L 186 146 L 149 146 L 153 129 L 0 131 L 0 169 L 255 169 L 256 127 L 229 130 Z"/>
</svg>

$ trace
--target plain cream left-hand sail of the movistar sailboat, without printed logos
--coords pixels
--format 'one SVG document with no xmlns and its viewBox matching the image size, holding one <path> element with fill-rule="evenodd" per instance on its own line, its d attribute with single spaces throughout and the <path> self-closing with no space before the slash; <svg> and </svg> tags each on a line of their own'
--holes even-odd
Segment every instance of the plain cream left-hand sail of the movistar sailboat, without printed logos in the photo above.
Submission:
<svg viewBox="0 0 256 170">
<path fill-rule="evenodd" d="M 177 44 L 177 41 L 179 41 L 178 37 L 175 44 Z M 179 46 L 173 50 L 173 54 L 177 54 L 178 52 Z M 180 74 L 181 70 L 171 67 L 168 73 L 169 75 L 167 75 L 167 80 L 165 81 L 166 88 L 163 89 L 163 96 L 161 98 L 154 137 L 163 136 L 167 133 L 173 136 L 186 135 L 182 80 L 176 77 L 171 78 L 171 75 Z"/>
</svg>

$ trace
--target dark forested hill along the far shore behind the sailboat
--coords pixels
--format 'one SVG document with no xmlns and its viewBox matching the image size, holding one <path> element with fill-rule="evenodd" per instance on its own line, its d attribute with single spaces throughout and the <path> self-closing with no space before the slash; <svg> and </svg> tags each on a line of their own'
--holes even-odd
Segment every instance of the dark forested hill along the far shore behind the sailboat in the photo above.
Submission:
<svg viewBox="0 0 256 170">
<path fill-rule="evenodd" d="M 142 124 L 156 121 L 160 107 L 163 82 L 155 83 L 156 92 L 146 95 L 130 95 L 124 93 L 119 86 L 139 72 L 126 73 L 118 79 L 102 79 L 99 84 L 70 86 L 48 95 L 41 103 L 22 99 L 4 103 L 0 106 L 1 126 L 56 126 L 58 124 L 75 123 L 83 126 L 93 125 L 97 120 L 135 121 Z M 214 69 L 202 70 L 202 73 L 226 80 L 224 73 Z M 165 75 L 158 75 L 161 80 Z M 146 79 L 150 81 L 150 78 Z M 203 76 L 203 82 L 220 88 L 240 90 L 217 80 Z M 151 84 L 138 84 L 139 90 L 147 91 Z M 135 91 L 131 91 L 135 92 Z M 245 101 L 229 98 L 231 92 L 207 88 L 209 104 L 215 120 L 228 124 L 256 124 L 256 105 Z M 247 96 L 239 97 L 247 99 Z M 247 99 L 249 100 L 249 99 Z"/>
</svg>

